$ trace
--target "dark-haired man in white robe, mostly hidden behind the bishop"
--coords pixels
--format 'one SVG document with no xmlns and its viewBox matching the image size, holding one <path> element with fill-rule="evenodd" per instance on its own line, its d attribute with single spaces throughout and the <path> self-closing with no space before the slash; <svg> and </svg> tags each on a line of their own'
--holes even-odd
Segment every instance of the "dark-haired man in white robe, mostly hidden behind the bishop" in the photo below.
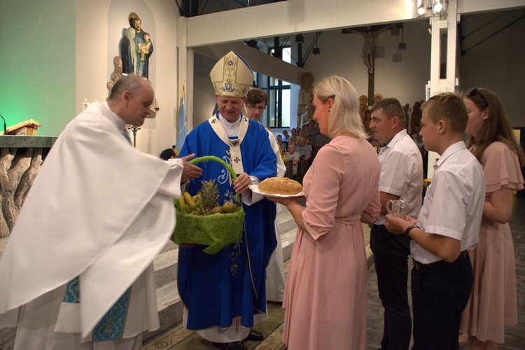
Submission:
<svg viewBox="0 0 525 350">
<path fill-rule="evenodd" d="M 248 90 L 246 102 L 244 103 L 244 106 L 246 106 L 246 116 L 260 123 L 260 118 L 265 111 L 267 103 L 268 94 L 265 90 L 252 87 Z M 275 135 L 269 130 L 268 138 L 277 157 L 277 176 L 283 177 L 284 174 L 286 174 L 286 165 L 284 165 L 283 158 L 281 158 L 281 149 L 276 142 Z M 281 244 L 281 231 L 279 230 L 279 211 L 281 211 L 281 204 L 276 205 L 275 237 L 277 239 L 277 246 L 269 258 L 266 267 L 266 300 L 270 302 L 283 302 L 284 286 L 286 283 L 284 279 L 283 246 Z"/>
</svg>

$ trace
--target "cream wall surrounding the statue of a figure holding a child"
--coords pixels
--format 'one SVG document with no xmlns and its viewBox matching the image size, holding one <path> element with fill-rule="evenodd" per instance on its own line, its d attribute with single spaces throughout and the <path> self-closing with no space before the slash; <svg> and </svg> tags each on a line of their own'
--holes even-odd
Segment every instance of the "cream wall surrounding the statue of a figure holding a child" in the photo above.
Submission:
<svg viewBox="0 0 525 350">
<path fill-rule="evenodd" d="M 148 78 L 155 89 L 159 111 L 156 118 L 146 119 L 141 130 L 137 131 L 136 139 L 139 150 L 154 155 L 160 154 L 163 149 L 174 144 L 176 115 L 179 110 L 179 74 L 176 65 L 176 18 L 179 16 L 179 10 L 176 3 L 171 0 L 98 0 L 93 6 L 91 2 L 86 4 L 86 1 L 77 1 L 77 12 L 79 33 L 85 33 L 91 26 L 90 22 L 97 18 L 102 18 L 101 27 L 106 29 L 102 53 L 95 54 L 95 62 L 99 62 L 95 74 L 85 73 L 84 68 L 92 66 L 91 52 L 97 45 L 97 38 L 87 36 L 83 41 L 77 41 L 83 43 L 81 49 L 77 49 L 77 73 L 84 75 L 76 82 L 77 109 L 81 107 L 84 99 L 88 102 L 106 100 L 106 83 L 114 69 L 113 57 L 119 55 L 118 44 L 123 29 L 130 27 L 128 15 L 132 12 L 137 13 L 143 29 L 151 34 L 154 50 L 149 60 Z M 92 81 L 92 84 L 85 85 L 86 81 Z M 77 113 L 80 111 L 77 110 Z"/>
</svg>

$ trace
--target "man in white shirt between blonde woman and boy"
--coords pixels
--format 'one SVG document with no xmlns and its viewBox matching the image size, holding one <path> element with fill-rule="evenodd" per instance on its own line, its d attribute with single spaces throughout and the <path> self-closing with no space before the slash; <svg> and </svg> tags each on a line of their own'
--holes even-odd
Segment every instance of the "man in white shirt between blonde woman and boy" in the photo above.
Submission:
<svg viewBox="0 0 525 350">
<path fill-rule="evenodd" d="M 405 213 L 416 217 L 423 195 L 421 153 L 405 130 L 405 113 L 394 98 L 380 99 L 370 109 L 374 138 L 386 144 L 379 153 L 381 216 L 370 231 L 377 288 L 384 312 L 382 349 L 408 349 L 412 318 L 408 306 L 410 240 L 392 235 L 384 227 L 389 200 L 404 200 Z"/>
</svg>

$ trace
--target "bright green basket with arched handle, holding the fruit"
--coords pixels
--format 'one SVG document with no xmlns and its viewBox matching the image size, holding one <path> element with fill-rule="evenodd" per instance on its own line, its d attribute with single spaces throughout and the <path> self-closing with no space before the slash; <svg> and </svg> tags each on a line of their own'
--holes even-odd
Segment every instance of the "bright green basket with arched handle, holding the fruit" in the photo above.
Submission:
<svg viewBox="0 0 525 350">
<path fill-rule="evenodd" d="M 232 178 L 237 179 L 235 171 L 221 158 L 213 155 L 190 160 L 191 164 L 207 161 L 219 162 L 224 165 Z M 240 203 L 239 193 L 236 194 L 237 203 Z M 222 248 L 233 244 L 242 237 L 244 223 L 244 209 L 238 207 L 233 213 L 196 216 L 176 210 L 177 223 L 174 230 L 176 244 L 204 244 L 208 246 L 204 253 L 216 254 Z"/>
</svg>

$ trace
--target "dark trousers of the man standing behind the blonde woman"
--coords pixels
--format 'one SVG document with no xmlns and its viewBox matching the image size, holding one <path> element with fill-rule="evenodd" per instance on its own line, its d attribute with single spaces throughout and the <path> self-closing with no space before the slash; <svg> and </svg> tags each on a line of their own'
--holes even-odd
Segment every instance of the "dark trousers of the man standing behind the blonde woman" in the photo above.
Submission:
<svg viewBox="0 0 525 350">
<path fill-rule="evenodd" d="M 370 230 L 370 249 L 384 307 L 381 349 L 408 349 L 412 334 L 407 287 L 410 240 L 404 235 L 393 235 L 384 225 L 374 225 Z"/>
</svg>

